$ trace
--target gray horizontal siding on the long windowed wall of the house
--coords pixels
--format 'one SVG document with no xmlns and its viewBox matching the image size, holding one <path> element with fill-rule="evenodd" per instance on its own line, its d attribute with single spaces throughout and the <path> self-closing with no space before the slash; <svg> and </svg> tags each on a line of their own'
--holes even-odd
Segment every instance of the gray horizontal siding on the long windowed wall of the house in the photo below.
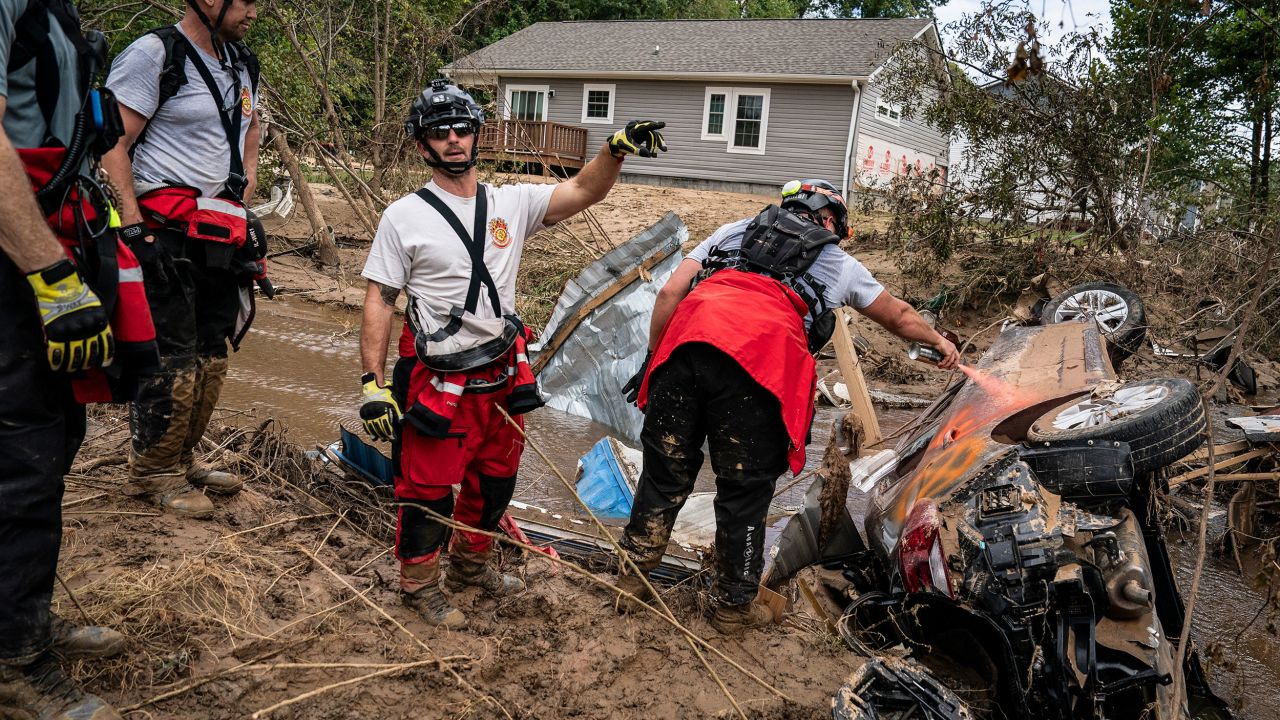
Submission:
<svg viewBox="0 0 1280 720">
<path fill-rule="evenodd" d="M 611 124 L 582 123 L 582 86 L 595 82 L 617 86 Z M 733 85 L 769 90 L 765 152 L 755 155 L 728 152 L 728 142 L 723 140 L 701 140 L 707 83 L 500 78 L 499 114 L 508 83 L 548 86 L 554 91 L 554 97 L 548 99 L 547 119 L 588 128 L 588 159 L 627 120 L 664 120 L 668 151 L 657 159 L 627 160 L 623 172 L 628 176 L 649 176 L 658 182 L 673 178 L 776 190 L 788 179 L 806 177 L 829 178 L 838 184 L 845 169 L 845 142 L 854 104 L 854 91 L 847 85 Z M 730 119 L 731 111 L 726 117 L 726 129 L 732 135 Z"/>
</svg>

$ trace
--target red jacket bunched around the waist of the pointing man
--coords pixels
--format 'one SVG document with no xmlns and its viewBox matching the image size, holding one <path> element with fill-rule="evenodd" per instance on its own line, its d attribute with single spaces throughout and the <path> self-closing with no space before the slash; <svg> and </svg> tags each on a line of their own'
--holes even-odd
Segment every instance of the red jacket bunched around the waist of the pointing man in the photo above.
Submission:
<svg viewBox="0 0 1280 720">
<path fill-rule="evenodd" d="M 538 379 L 529 365 L 529 328 L 525 328 L 507 355 L 472 370 L 442 373 L 416 363 L 408 380 L 406 420 L 426 436 L 448 437 L 463 392 L 493 393 L 494 401 L 503 402 L 511 415 L 541 407 L 544 402 L 538 392 Z M 401 332 L 399 355 L 415 356 L 413 332 L 408 323 Z"/>
</svg>

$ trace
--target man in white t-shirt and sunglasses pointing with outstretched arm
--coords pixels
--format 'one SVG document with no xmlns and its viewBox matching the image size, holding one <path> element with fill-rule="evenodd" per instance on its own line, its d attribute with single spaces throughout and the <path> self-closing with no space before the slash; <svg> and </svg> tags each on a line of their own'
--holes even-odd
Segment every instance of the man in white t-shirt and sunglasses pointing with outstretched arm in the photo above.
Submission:
<svg viewBox="0 0 1280 720">
<path fill-rule="evenodd" d="M 627 155 L 653 158 L 667 149 L 659 132 L 664 123 L 632 120 L 572 179 L 494 187 L 476 179 L 483 124 L 480 106 L 448 81 L 422 91 L 406 126 L 433 178 L 383 213 L 362 273 L 369 290 L 360 331 L 360 415 L 371 437 L 392 441 L 401 591 L 424 620 L 448 628 L 466 624 L 440 587 L 449 532 L 422 509 L 495 530 L 524 448 L 498 409 L 518 424 L 520 414 L 541 405 L 525 355 L 526 332 L 515 314 L 525 240 L 603 200 Z M 401 291 L 408 309 L 399 360 L 387 382 Z M 461 484 L 456 501 L 454 484 Z M 474 585 L 494 596 L 522 591 L 518 578 L 488 564 L 492 548 L 488 536 L 454 532 L 449 588 Z"/>
</svg>

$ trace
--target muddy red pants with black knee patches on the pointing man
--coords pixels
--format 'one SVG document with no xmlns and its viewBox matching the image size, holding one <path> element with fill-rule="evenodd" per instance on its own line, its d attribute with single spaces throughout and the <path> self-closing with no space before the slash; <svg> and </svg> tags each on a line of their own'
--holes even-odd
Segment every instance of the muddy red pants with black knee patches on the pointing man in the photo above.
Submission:
<svg viewBox="0 0 1280 720">
<path fill-rule="evenodd" d="M 412 383 L 411 383 L 412 384 Z M 498 407 L 506 407 L 508 389 L 463 393 L 458 400 L 449 434 L 435 438 L 403 423 L 399 439 L 399 474 L 396 497 L 403 505 L 396 533 L 396 556 L 404 562 L 436 557 L 447 537 L 444 525 L 419 510 L 417 505 L 449 516 L 458 523 L 494 532 L 516 491 L 516 471 L 525 447 L 520 432 Z M 524 421 L 513 418 L 520 428 Z M 461 484 L 457 502 L 452 486 Z M 493 538 L 460 530 L 451 552 L 483 560 Z"/>
</svg>

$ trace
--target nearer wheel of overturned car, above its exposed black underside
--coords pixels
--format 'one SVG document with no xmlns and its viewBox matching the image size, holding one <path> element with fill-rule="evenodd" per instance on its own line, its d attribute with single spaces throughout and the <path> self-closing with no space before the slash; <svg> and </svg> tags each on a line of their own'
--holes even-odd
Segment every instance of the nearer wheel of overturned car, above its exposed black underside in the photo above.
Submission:
<svg viewBox="0 0 1280 720">
<path fill-rule="evenodd" d="M 1129 443 L 1135 475 L 1166 468 L 1204 441 L 1204 406 L 1189 380 L 1124 383 L 1043 414 L 1027 430 L 1030 443 L 1120 441 Z"/>
</svg>

